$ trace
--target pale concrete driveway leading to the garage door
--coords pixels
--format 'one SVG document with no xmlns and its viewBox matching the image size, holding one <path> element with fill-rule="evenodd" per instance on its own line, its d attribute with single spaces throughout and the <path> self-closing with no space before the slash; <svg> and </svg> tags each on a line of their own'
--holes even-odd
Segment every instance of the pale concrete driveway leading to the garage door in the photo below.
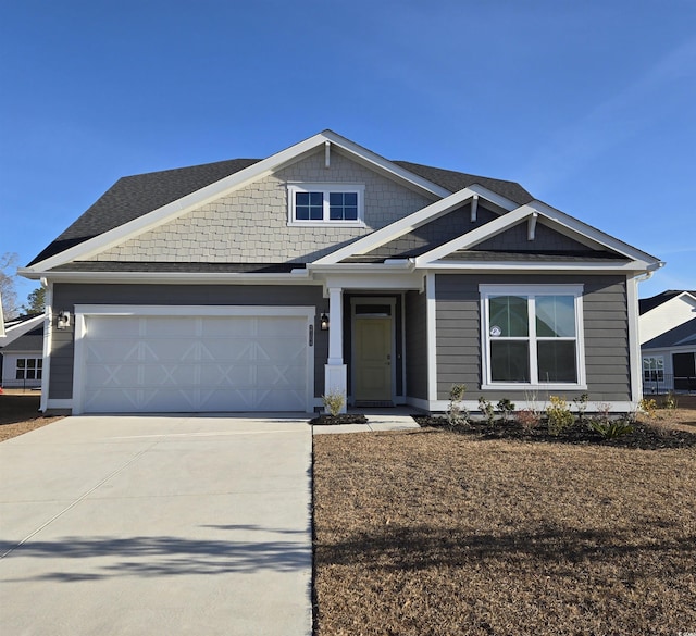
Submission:
<svg viewBox="0 0 696 636">
<path fill-rule="evenodd" d="M 79 416 L 0 444 L 0 632 L 311 634 L 306 420 Z"/>
</svg>

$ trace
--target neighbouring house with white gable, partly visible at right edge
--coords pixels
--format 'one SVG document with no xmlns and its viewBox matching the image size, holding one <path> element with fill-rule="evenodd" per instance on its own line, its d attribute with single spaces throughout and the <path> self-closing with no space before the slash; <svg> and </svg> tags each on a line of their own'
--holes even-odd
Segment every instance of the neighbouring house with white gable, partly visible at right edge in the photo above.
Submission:
<svg viewBox="0 0 696 636">
<path fill-rule="evenodd" d="M 638 305 L 644 391 L 696 391 L 696 291 L 670 289 Z"/>
</svg>

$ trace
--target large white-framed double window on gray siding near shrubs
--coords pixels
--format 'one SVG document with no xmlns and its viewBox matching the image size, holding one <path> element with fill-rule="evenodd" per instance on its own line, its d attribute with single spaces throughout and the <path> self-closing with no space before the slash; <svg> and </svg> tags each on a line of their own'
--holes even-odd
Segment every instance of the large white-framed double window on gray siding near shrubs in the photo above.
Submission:
<svg viewBox="0 0 696 636">
<path fill-rule="evenodd" d="M 582 286 L 482 285 L 483 385 L 585 385 Z"/>
</svg>

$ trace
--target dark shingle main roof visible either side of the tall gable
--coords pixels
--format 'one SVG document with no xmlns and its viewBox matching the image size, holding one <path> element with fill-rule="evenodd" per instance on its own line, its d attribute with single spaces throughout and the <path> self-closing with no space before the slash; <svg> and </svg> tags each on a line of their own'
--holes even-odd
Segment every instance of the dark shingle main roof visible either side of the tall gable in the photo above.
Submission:
<svg viewBox="0 0 696 636">
<path fill-rule="evenodd" d="M 259 161 L 261 160 L 232 159 L 122 177 L 27 266 L 144 216 Z M 524 188 L 512 182 L 474 176 L 407 161 L 394 161 L 393 163 L 451 192 L 472 184 L 480 184 L 519 204 L 527 203 L 533 199 Z"/>
</svg>

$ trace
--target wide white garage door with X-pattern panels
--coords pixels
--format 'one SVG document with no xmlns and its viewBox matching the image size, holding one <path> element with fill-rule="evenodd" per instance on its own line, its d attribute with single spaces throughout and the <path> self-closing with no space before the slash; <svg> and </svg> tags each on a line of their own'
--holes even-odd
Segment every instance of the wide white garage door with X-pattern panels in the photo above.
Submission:
<svg viewBox="0 0 696 636">
<path fill-rule="evenodd" d="M 83 324 L 83 412 L 308 410 L 307 316 L 85 315 Z"/>
</svg>

